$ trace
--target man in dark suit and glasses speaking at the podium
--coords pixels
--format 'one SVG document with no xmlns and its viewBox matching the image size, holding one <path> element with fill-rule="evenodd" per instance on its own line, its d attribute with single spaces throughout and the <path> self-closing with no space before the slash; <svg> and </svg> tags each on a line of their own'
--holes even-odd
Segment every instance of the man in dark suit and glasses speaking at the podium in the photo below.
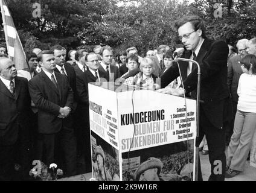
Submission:
<svg viewBox="0 0 256 193">
<path fill-rule="evenodd" d="M 198 16 L 185 16 L 177 21 L 175 26 L 178 29 L 179 39 L 187 49 L 181 57 L 196 60 L 200 64 L 201 69 L 200 100 L 202 103 L 200 103 L 200 128 L 196 147 L 199 146 L 205 134 L 211 163 L 211 176 L 209 180 L 224 180 L 226 158 L 223 123 L 227 118 L 231 118 L 228 113 L 232 110 L 231 106 L 228 106 L 231 102 L 228 84 L 226 83 L 228 45 L 222 41 L 207 39 L 203 21 Z M 181 77 L 184 80 L 184 87 L 180 86 L 176 89 L 165 88 L 165 86 L 179 76 L 178 65 L 174 63 L 162 75 L 161 87 L 164 89 L 159 90 L 159 92 L 177 96 L 191 93 L 191 96 L 196 98 L 197 67 L 188 62 L 179 62 L 179 65 Z M 216 165 L 216 163 L 218 164 Z M 216 166 L 219 166 L 217 171 Z M 202 180 L 200 159 L 198 179 Z"/>
</svg>

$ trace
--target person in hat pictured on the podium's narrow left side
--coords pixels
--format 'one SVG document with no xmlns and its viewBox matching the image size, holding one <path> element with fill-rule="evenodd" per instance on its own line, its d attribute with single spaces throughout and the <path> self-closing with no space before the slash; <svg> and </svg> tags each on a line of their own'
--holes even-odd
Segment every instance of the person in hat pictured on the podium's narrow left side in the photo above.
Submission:
<svg viewBox="0 0 256 193">
<path fill-rule="evenodd" d="M 95 149 L 95 159 L 98 165 L 98 176 L 97 180 L 98 181 L 113 181 L 109 171 L 107 171 L 105 167 L 105 154 L 103 149 L 101 148 L 100 145 L 98 145 Z"/>
</svg>

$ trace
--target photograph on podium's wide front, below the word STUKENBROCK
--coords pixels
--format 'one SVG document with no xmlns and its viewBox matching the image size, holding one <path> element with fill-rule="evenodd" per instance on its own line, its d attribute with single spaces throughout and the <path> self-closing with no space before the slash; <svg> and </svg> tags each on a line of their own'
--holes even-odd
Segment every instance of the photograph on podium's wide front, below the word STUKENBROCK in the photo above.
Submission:
<svg viewBox="0 0 256 193">
<path fill-rule="evenodd" d="M 123 181 L 192 181 L 193 155 L 194 139 L 122 153 Z"/>
</svg>

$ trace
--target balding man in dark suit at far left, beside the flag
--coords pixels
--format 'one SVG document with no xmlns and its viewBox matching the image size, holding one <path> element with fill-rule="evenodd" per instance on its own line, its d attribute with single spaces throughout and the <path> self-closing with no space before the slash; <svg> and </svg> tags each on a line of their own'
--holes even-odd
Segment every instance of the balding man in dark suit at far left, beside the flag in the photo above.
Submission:
<svg viewBox="0 0 256 193">
<path fill-rule="evenodd" d="M 27 134 L 30 127 L 30 95 L 26 78 L 17 77 L 14 63 L 0 58 L 0 180 L 11 180 L 14 171 L 14 149 L 20 141 L 21 160 L 28 160 Z M 28 164 L 28 163 L 27 163 Z"/>
</svg>

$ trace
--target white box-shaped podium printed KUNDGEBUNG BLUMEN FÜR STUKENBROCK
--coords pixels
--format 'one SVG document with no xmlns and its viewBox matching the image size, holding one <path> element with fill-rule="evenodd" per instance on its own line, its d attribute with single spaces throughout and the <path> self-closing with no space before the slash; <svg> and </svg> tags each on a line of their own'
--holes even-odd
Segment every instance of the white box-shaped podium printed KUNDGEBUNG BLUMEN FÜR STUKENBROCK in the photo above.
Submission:
<svg viewBox="0 0 256 193">
<path fill-rule="evenodd" d="M 196 101 L 89 83 L 94 180 L 194 180 Z"/>
</svg>

